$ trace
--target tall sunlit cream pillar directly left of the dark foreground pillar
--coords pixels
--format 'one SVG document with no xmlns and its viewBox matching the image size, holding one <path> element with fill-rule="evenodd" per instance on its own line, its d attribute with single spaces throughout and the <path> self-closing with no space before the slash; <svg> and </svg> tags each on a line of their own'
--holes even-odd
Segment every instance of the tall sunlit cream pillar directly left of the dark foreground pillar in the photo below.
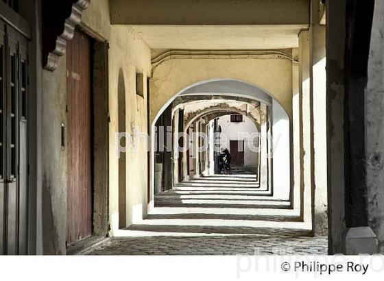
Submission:
<svg viewBox="0 0 384 281">
<path fill-rule="evenodd" d="M 320 1 L 311 1 L 311 92 L 313 98 L 313 230 L 328 234 L 326 178 L 326 27 L 320 25 Z"/>
</svg>

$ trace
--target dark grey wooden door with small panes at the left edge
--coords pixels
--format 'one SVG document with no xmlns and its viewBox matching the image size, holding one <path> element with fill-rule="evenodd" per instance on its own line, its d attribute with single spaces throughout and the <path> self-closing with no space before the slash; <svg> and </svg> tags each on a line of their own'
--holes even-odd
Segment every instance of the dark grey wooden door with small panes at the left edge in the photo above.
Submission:
<svg viewBox="0 0 384 281">
<path fill-rule="evenodd" d="M 0 254 L 27 254 L 27 40 L 0 21 Z"/>
</svg>

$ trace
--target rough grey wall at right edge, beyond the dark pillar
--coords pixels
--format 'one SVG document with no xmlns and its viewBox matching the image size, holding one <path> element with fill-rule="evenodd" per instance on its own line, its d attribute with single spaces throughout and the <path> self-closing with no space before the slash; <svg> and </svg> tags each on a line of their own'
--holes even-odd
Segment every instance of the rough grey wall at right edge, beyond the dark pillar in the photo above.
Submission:
<svg viewBox="0 0 384 281">
<path fill-rule="evenodd" d="M 370 227 L 384 247 L 384 3 L 376 1 L 367 86 L 368 215 Z"/>
</svg>

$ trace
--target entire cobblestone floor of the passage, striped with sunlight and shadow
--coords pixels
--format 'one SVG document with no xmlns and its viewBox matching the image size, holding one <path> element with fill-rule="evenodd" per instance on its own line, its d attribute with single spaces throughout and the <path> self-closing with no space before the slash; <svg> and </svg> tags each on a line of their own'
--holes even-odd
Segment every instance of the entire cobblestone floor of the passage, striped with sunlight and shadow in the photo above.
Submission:
<svg viewBox="0 0 384 281">
<path fill-rule="evenodd" d="M 119 230 L 94 255 L 327 254 L 289 201 L 261 190 L 253 175 L 200 178 L 155 197 L 139 224 Z"/>
</svg>

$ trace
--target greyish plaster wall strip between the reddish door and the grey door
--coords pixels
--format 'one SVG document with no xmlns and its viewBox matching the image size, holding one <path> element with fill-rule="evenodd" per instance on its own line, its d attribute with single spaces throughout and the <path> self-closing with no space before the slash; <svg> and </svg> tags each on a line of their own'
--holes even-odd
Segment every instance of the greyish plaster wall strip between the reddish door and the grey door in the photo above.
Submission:
<svg viewBox="0 0 384 281">
<path fill-rule="evenodd" d="M 61 123 L 67 121 L 67 63 L 43 71 L 43 249 L 65 254 L 67 236 L 67 149 L 61 146 Z M 67 146 L 66 146 L 67 147 Z"/>
</svg>

